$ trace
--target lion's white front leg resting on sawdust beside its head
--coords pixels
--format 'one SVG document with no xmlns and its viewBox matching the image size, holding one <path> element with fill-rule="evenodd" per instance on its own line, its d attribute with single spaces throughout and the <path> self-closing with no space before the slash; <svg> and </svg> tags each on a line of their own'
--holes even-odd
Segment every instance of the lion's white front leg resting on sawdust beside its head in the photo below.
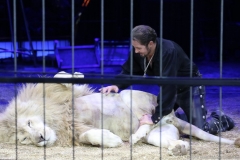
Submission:
<svg viewBox="0 0 240 160">
<path fill-rule="evenodd" d="M 123 144 L 121 138 L 106 129 L 90 129 L 79 136 L 84 144 L 103 147 L 118 147 Z"/>
</svg>

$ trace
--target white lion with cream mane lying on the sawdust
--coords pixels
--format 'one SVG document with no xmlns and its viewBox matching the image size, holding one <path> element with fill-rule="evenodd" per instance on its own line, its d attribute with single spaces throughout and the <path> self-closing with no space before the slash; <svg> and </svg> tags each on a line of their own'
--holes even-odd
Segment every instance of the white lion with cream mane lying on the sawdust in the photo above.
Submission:
<svg viewBox="0 0 240 160">
<path fill-rule="evenodd" d="M 55 77 L 72 76 L 62 73 Z M 123 141 L 135 144 L 142 139 L 168 148 L 170 155 L 185 155 L 189 143 L 179 140 L 179 134 L 189 134 L 190 128 L 199 139 L 219 142 L 219 137 L 178 119 L 174 113 L 164 116 L 158 125 L 139 126 L 139 119 L 151 114 L 156 102 L 155 95 L 136 90 L 105 95 L 94 93 L 88 85 L 25 84 L 0 113 L 0 142 L 118 147 Z M 240 139 L 221 138 L 221 142 L 240 146 Z"/>
</svg>

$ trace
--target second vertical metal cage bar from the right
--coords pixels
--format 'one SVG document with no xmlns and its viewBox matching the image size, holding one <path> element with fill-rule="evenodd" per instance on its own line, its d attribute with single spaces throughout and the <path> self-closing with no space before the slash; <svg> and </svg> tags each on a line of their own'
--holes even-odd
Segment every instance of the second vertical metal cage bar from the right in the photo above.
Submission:
<svg viewBox="0 0 240 160">
<path fill-rule="evenodd" d="M 190 8 L 190 78 L 192 78 L 192 70 L 193 70 L 193 16 L 194 16 L 194 1 L 191 0 L 191 8 Z M 190 124 L 192 124 L 192 86 L 190 86 Z M 192 135 L 192 127 L 190 126 L 190 135 Z M 192 136 L 190 136 L 190 144 L 192 142 Z M 192 159 L 192 145 L 190 145 L 190 159 Z"/>
</svg>

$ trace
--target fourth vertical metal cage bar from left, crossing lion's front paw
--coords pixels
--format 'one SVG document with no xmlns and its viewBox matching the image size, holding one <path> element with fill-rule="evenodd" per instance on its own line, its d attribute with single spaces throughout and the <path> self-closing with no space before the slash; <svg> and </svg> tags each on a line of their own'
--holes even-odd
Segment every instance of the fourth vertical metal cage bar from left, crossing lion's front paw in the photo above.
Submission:
<svg viewBox="0 0 240 160">
<path fill-rule="evenodd" d="M 104 0 L 101 0 L 101 75 L 104 75 Z M 103 86 L 102 86 L 103 87 Z M 102 143 L 103 137 L 103 94 L 101 94 L 101 126 L 102 126 Z M 101 145 L 101 158 L 103 159 L 103 144 Z"/>
</svg>

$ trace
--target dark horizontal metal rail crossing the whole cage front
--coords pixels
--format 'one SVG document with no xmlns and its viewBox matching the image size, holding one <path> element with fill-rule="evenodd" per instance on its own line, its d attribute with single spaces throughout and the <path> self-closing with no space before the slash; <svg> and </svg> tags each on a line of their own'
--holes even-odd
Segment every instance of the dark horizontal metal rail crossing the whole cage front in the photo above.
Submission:
<svg viewBox="0 0 240 160">
<path fill-rule="evenodd" d="M 1 77 L 0 83 L 73 83 L 73 84 L 143 84 L 143 85 L 210 85 L 210 86 L 240 86 L 240 78 L 33 78 L 33 77 Z"/>
</svg>

